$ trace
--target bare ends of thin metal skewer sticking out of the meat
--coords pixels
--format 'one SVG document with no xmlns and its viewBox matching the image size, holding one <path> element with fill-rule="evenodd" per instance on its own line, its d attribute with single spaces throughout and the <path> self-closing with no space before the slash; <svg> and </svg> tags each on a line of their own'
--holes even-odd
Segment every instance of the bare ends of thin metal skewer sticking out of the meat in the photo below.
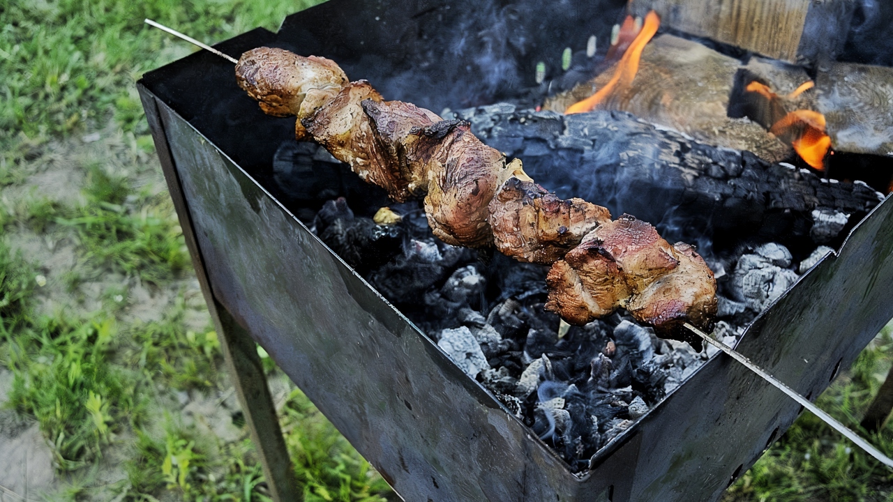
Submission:
<svg viewBox="0 0 893 502">
<path fill-rule="evenodd" d="M 188 35 L 184 35 L 183 33 L 180 33 L 176 29 L 168 28 L 168 27 L 164 26 L 163 24 L 157 23 L 150 19 L 146 19 L 145 21 L 146 21 L 146 24 L 154 26 L 157 29 L 162 29 L 163 31 L 166 31 L 175 37 L 182 38 L 182 39 L 186 40 L 187 42 L 195 44 L 196 46 L 202 47 L 203 49 L 205 49 L 207 51 L 211 51 L 214 54 L 217 54 L 217 55 L 221 56 L 222 58 L 230 61 L 231 63 L 238 63 L 238 60 L 236 58 L 234 58 L 228 54 L 223 54 L 223 53 L 221 53 L 221 51 L 213 48 L 212 46 L 203 44 L 202 42 L 199 42 L 195 38 L 192 38 L 192 37 L 189 37 Z M 750 370 L 751 372 L 755 372 L 764 381 L 768 381 L 776 389 L 779 389 L 780 391 L 784 392 L 790 398 L 797 401 L 797 403 L 799 403 L 801 406 L 804 406 L 806 409 L 813 412 L 813 414 L 815 414 L 820 419 L 822 419 L 822 421 L 824 423 L 827 423 L 834 430 L 840 432 L 845 437 L 847 437 L 847 439 L 850 439 L 851 441 L 853 441 L 857 447 L 864 449 L 866 453 L 868 453 L 869 455 L 878 459 L 880 461 L 880 463 L 885 464 L 889 468 L 893 469 L 893 460 L 891 460 L 888 456 L 885 456 L 877 448 L 872 447 L 872 445 L 869 444 L 868 441 L 859 437 L 854 431 L 850 431 L 849 429 L 847 429 L 846 425 L 844 425 L 843 423 L 839 423 L 837 420 L 835 420 L 833 417 L 831 417 L 830 414 L 823 412 L 821 408 L 819 408 L 818 406 L 815 406 L 808 399 L 797 394 L 797 391 L 789 388 L 787 385 L 784 384 L 784 382 L 776 379 L 771 374 L 764 372 L 763 369 L 761 369 L 759 366 L 751 363 L 750 360 L 747 359 L 747 357 L 741 356 L 738 352 L 733 350 L 731 347 L 729 347 L 715 339 L 710 338 L 707 334 L 705 334 L 704 331 L 698 330 L 696 327 L 692 326 L 688 322 L 685 323 L 685 327 L 688 328 L 689 330 L 691 330 L 692 332 L 694 332 L 695 334 L 697 334 L 697 336 L 701 337 L 702 339 L 705 339 L 705 341 L 707 343 L 709 343 L 710 345 L 713 345 L 714 347 L 722 350 L 722 352 L 725 352 L 726 354 L 731 356 L 733 359 L 738 361 L 740 364 L 744 364 L 744 366 L 747 367 L 748 370 Z"/>
</svg>

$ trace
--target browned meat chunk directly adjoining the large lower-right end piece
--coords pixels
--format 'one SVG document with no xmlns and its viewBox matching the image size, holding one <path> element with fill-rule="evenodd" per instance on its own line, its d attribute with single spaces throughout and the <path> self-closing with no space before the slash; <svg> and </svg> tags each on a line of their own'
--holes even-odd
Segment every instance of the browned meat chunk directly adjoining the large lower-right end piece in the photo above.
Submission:
<svg viewBox="0 0 893 502">
<path fill-rule="evenodd" d="M 562 200 L 523 172 L 512 176 L 490 201 L 489 223 L 497 249 L 533 264 L 554 264 L 583 236 L 611 222 L 611 213 L 580 198 Z"/>
</svg>

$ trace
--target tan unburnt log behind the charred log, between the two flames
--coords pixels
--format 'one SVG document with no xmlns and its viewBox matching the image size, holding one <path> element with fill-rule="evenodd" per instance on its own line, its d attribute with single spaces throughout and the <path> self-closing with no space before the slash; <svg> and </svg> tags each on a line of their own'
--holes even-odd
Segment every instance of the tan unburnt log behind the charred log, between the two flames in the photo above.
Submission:
<svg viewBox="0 0 893 502">
<path fill-rule="evenodd" d="M 569 105 L 605 86 L 614 68 L 567 93 L 548 98 L 543 109 L 563 113 Z M 809 79 L 802 69 L 781 69 L 764 60 L 745 68 L 773 86 L 790 90 Z M 728 116 L 729 96 L 741 69 L 739 60 L 697 42 L 661 35 L 645 47 L 630 88 L 612 96 L 604 108 L 633 113 L 709 145 L 753 152 L 770 162 L 789 158 L 791 147 L 762 126 Z"/>
</svg>

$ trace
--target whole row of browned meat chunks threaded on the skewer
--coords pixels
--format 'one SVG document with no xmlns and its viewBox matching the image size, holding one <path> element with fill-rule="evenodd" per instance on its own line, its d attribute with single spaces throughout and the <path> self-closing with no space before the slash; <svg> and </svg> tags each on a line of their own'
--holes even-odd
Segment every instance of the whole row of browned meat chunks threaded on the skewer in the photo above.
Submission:
<svg viewBox="0 0 893 502">
<path fill-rule="evenodd" d="M 424 196 L 431 230 L 447 244 L 495 244 L 551 265 L 546 308 L 564 321 L 585 324 L 622 307 L 667 338 L 692 339 L 684 322 L 712 327 L 716 281 L 694 247 L 670 245 L 628 214 L 612 221 L 605 207 L 550 194 L 468 122 L 384 101 L 329 59 L 280 48 L 242 54 L 236 79 L 264 113 L 296 116 L 297 139 L 313 139 L 393 200 Z"/>
</svg>

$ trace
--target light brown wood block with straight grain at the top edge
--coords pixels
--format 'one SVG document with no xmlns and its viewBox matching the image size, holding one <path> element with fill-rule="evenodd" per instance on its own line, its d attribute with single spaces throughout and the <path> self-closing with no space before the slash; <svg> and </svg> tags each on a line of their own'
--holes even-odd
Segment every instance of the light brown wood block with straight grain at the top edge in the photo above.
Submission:
<svg viewBox="0 0 893 502">
<path fill-rule="evenodd" d="M 828 61 L 843 50 L 853 0 L 631 0 L 662 26 L 790 63 Z"/>
</svg>

